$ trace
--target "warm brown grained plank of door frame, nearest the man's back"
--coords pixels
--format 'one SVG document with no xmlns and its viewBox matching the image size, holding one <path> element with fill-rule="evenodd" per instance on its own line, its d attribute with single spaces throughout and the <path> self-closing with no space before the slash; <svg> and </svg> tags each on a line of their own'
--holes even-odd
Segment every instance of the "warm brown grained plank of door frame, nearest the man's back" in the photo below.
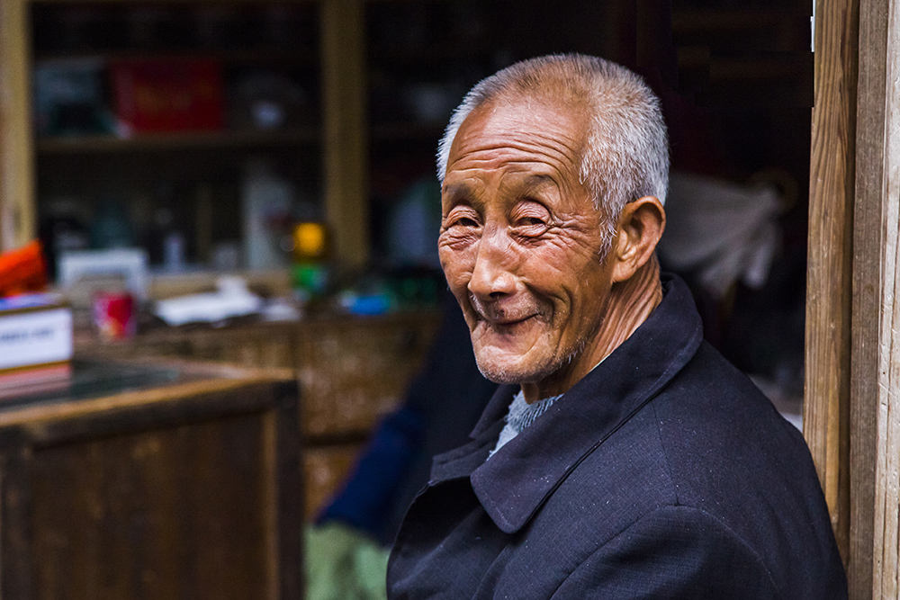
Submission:
<svg viewBox="0 0 900 600">
<path fill-rule="evenodd" d="M 847 562 L 859 0 L 817 0 L 810 152 L 804 434 Z"/>
</svg>

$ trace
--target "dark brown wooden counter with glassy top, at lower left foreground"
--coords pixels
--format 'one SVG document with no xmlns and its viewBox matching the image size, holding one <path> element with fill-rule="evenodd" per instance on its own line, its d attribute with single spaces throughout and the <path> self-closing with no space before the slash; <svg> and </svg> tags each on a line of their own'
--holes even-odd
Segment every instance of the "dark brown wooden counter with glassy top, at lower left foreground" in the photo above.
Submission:
<svg viewBox="0 0 900 600">
<path fill-rule="evenodd" d="M 293 380 L 78 362 L 0 408 L 0 595 L 302 597 Z"/>
</svg>

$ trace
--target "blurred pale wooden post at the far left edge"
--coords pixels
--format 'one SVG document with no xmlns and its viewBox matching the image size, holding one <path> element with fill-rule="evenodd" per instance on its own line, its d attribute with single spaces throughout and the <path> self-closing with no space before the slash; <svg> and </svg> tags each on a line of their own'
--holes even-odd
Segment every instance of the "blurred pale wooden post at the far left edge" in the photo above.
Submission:
<svg viewBox="0 0 900 600">
<path fill-rule="evenodd" d="M 37 235 L 28 0 L 0 0 L 0 251 Z"/>
</svg>

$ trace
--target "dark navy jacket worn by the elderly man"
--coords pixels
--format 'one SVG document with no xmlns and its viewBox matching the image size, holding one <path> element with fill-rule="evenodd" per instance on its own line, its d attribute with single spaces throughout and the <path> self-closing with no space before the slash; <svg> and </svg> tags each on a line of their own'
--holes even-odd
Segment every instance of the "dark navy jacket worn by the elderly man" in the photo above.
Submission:
<svg viewBox="0 0 900 600">
<path fill-rule="evenodd" d="M 702 341 L 680 280 L 488 461 L 514 392 L 435 459 L 388 567 L 407 598 L 847 597 L 803 436 Z"/>
</svg>

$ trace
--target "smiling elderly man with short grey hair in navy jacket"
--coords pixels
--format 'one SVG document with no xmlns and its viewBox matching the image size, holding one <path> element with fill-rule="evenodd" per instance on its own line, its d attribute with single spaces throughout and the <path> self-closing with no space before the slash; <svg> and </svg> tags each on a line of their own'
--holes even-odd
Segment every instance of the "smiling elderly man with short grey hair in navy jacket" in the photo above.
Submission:
<svg viewBox="0 0 900 600">
<path fill-rule="evenodd" d="M 844 598 L 806 444 L 662 277 L 668 144 L 639 77 L 535 58 L 447 128 L 441 264 L 503 385 L 435 459 L 392 598 Z"/>
</svg>

